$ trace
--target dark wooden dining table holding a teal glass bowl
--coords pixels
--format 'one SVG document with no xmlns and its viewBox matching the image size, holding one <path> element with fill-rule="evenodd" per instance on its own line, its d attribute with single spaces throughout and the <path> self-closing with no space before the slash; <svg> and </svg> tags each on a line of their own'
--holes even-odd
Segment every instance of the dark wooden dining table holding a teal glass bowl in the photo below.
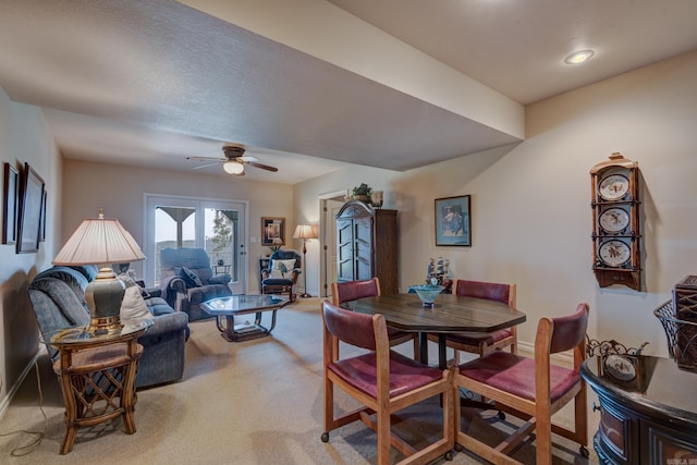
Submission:
<svg viewBox="0 0 697 465">
<path fill-rule="evenodd" d="M 492 332 L 525 322 L 523 311 L 487 298 L 440 294 L 425 307 L 416 294 L 364 297 L 344 304 L 362 314 L 380 314 L 389 327 L 419 333 L 419 359 L 428 363 L 428 333 L 438 335 L 438 366 L 445 369 L 445 338 L 454 332 Z"/>
</svg>

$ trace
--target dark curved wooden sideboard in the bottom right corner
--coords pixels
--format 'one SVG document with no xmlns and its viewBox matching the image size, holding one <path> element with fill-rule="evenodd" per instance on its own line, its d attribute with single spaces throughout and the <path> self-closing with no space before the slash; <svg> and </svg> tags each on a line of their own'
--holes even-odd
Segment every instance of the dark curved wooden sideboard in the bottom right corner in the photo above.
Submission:
<svg viewBox="0 0 697 465">
<path fill-rule="evenodd" d="M 636 355 L 611 359 L 609 365 L 632 365 L 613 376 L 604 357 L 588 358 L 580 367 L 600 401 L 594 437 L 600 463 L 697 463 L 697 374 L 681 370 L 670 358 Z"/>
</svg>

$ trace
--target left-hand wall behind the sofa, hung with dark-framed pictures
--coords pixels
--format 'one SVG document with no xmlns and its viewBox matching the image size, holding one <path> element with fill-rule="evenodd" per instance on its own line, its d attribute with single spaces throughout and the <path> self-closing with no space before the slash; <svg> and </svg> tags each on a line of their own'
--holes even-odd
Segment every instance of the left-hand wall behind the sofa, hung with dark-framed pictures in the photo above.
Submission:
<svg viewBox="0 0 697 465">
<path fill-rule="evenodd" d="M 29 363 L 39 346 L 38 330 L 26 286 L 38 271 L 50 266 L 54 255 L 52 237 L 60 224 L 61 193 L 61 159 L 44 114 L 36 107 L 11 101 L 1 87 L 0 162 L 8 162 L 20 172 L 24 163 L 28 162 L 44 179 L 48 192 L 47 240 L 40 243 L 39 252 L 17 255 L 14 245 L 0 245 L 1 415 L 17 381 L 30 368 Z M 0 185 L 2 183 L 0 176 Z"/>
</svg>

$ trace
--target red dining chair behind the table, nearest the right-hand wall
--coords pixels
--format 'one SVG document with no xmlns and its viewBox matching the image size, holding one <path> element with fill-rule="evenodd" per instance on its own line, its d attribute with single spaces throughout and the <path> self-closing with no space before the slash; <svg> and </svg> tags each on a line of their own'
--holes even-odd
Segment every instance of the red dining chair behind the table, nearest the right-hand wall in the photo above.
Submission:
<svg viewBox="0 0 697 465">
<path fill-rule="evenodd" d="M 515 284 L 500 284 L 493 282 L 455 280 L 453 294 L 470 297 L 487 298 L 508 304 L 515 308 Z M 429 339 L 432 340 L 429 334 Z M 455 351 L 455 363 L 460 364 L 460 351 L 485 355 L 497 348 L 511 347 L 511 353 L 517 353 L 517 332 L 515 327 L 494 332 L 460 332 L 448 334 L 447 344 Z"/>
</svg>

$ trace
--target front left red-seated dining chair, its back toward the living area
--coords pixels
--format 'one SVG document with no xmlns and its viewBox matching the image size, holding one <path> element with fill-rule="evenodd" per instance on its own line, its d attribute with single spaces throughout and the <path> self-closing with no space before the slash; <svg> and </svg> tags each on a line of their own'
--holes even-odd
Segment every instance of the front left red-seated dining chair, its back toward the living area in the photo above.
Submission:
<svg viewBox="0 0 697 465">
<path fill-rule="evenodd" d="M 362 420 L 378 435 L 378 464 L 391 461 L 391 446 L 405 457 L 400 464 L 427 463 L 439 455 L 452 458 L 454 446 L 452 369 L 440 370 L 390 350 L 382 315 L 365 315 L 323 301 L 325 432 Z M 341 359 L 335 347 L 343 341 L 368 352 Z M 334 387 L 362 406 L 334 417 Z M 391 428 L 392 416 L 426 399 L 442 396 L 442 438 L 416 450 Z M 437 403 L 435 408 L 440 408 Z M 406 420 L 405 420 L 406 421 Z"/>
</svg>

